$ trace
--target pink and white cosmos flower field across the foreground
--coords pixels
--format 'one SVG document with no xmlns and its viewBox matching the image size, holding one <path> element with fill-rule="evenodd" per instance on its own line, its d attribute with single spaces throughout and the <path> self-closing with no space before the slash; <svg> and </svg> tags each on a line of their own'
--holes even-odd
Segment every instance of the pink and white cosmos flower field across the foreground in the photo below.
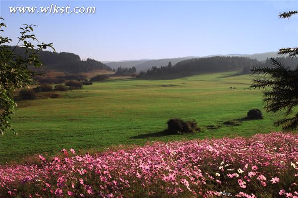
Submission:
<svg viewBox="0 0 298 198">
<path fill-rule="evenodd" d="M 170 143 L 1 166 L 1 197 L 298 198 L 298 134 Z"/>
</svg>

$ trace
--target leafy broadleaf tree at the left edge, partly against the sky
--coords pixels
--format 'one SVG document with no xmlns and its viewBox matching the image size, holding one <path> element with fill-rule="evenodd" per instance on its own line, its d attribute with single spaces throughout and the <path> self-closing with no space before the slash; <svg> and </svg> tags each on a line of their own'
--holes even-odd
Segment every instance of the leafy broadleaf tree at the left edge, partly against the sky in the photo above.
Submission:
<svg viewBox="0 0 298 198">
<path fill-rule="evenodd" d="M 7 27 L 3 22 L 4 19 L 0 17 L 0 31 L 3 32 L 3 28 Z M 13 99 L 13 95 L 16 89 L 27 87 L 33 84 L 32 76 L 37 73 L 31 71 L 29 67 L 40 67 L 42 62 L 40 61 L 37 53 L 47 48 L 55 49 L 52 43 L 45 44 L 39 43 L 35 35 L 32 34 L 33 27 L 35 25 L 23 24 L 20 27 L 20 37 L 18 37 L 17 45 L 11 49 L 7 46 L 12 40 L 8 37 L 0 35 L 0 57 L 1 57 L 1 70 L 0 70 L 0 97 L 1 97 L 1 134 L 8 130 L 13 130 L 10 119 L 17 107 Z M 34 45 L 32 42 L 38 42 Z M 16 47 L 22 47 L 25 49 L 23 55 L 17 55 L 15 53 Z"/>
</svg>

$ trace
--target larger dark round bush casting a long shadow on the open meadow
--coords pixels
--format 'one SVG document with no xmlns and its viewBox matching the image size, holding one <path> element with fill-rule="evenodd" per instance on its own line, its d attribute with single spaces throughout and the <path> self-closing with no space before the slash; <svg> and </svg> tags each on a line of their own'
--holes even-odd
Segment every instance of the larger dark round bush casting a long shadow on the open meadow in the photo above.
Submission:
<svg viewBox="0 0 298 198">
<path fill-rule="evenodd" d="M 167 122 L 167 125 L 170 134 L 194 133 L 201 131 L 195 120 L 184 121 L 182 119 L 170 119 Z"/>
</svg>

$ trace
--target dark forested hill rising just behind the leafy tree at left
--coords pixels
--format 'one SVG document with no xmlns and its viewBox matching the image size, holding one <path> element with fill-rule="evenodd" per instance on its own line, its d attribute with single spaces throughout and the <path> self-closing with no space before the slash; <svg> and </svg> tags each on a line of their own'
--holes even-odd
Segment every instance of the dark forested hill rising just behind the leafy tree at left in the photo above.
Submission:
<svg viewBox="0 0 298 198">
<path fill-rule="evenodd" d="M 14 46 L 10 46 L 11 49 Z M 25 49 L 17 47 L 15 53 L 18 55 L 23 55 Z M 94 70 L 108 70 L 112 71 L 112 68 L 91 58 L 87 60 L 81 60 L 80 57 L 74 53 L 67 52 L 51 52 L 51 51 L 39 51 L 38 56 L 43 62 L 44 67 L 51 70 L 61 71 L 61 72 L 90 72 Z"/>
</svg>

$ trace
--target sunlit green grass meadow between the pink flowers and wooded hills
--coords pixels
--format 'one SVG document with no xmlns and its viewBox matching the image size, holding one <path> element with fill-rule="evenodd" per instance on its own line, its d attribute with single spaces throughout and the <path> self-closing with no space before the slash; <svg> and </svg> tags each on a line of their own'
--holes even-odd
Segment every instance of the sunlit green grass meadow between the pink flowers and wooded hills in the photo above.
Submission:
<svg viewBox="0 0 298 198">
<path fill-rule="evenodd" d="M 145 144 L 223 136 L 251 136 L 271 130 L 277 115 L 263 110 L 262 91 L 248 88 L 253 76 L 202 74 L 175 80 L 117 79 L 61 92 L 61 98 L 18 102 L 13 116 L 18 136 L 1 136 L 1 163 L 26 155 L 57 153 L 62 148 L 98 149 L 119 144 Z M 237 89 L 230 90 L 230 87 Z M 251 108 L 264 119 L 226 126 Z M 166 136 L 170 118 L 196 119 L 201 133 Z M 217 130 L 208 125 L 221 125 Z"/>
</svg>

